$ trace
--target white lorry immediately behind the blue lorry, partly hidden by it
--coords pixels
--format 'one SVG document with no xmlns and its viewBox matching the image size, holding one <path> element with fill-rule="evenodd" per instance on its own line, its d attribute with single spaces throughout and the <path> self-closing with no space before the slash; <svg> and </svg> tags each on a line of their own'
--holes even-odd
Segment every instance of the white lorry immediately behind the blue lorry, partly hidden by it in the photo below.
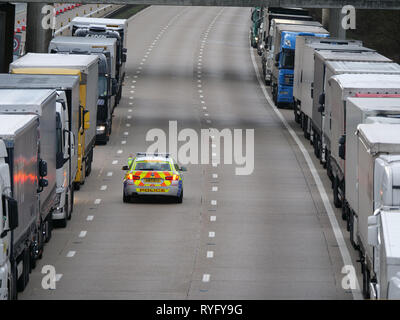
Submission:
<svg viewBox="0 0 400 320">
<path fill-rule="evenodd" d="M 275 48 L 275 35 L 278 25 L 303 25 L 303 26 L 322 26 L 317 21 L 309 20 L 289 20 L 289 19 L 272 19 L 271 26 L 268 31 L 265 50 L 261 56 L 261 65 L 263 70 L 263 77 L 266 85 L 271 84 L 272 68 L 275 63 L 274 48 Z"/>
</svg>

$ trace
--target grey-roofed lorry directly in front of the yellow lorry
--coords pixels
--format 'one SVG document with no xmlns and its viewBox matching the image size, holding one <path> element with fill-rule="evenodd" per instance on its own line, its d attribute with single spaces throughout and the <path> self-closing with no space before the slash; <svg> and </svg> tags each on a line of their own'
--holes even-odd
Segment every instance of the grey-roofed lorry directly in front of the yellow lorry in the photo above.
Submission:
<svg viewBox="0 0 400 320">
<path fill-rule="evenodd" d="M 57 200 L 53 208 L 52 219 L 56 225 L 65 227 L 73 211 L 73 182 L 78 170 L 75 143 L 81 126 L 79 122 L 79 76 L 0 74 L 0 88 L 57 90 Z"/>
</svg>

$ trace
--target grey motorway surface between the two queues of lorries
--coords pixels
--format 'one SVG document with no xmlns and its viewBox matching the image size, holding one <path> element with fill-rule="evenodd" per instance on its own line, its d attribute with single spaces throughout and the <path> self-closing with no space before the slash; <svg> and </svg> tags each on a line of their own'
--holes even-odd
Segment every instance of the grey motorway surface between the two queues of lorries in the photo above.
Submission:
<svg viewBox="0 0 400 320">
<path fill-rule="evenodd" d="M 359 266 L 340 211 L 328 215 L 309 163 L 257 80 L 249 16 L 246 8 L 154 6 L 130 20 L 111 140 L 95 148 L 72 220 L 53 231 L 20 299 L 357 297 L 342 288 L 343 254 Z M 293 112 L 281 112 L 300 132 Z M 254 171 L 189 164 L 182 204 L 123 203 L 121 167 L 152 143 L 149 130 L 168 133 L 170 120 L 197 133 L 254 129 Z M 300 133 L 298 140 L 331 201 L 309 142 Z M 45 265 L 55 267 L 55 290 L 42 288 Z"/>
</svg>

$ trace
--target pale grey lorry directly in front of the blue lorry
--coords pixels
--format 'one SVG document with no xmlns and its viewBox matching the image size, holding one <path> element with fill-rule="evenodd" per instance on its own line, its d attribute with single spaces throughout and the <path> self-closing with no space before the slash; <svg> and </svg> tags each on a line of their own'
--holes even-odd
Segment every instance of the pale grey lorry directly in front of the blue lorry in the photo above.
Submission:
<svg viewBox="0 0 400 320">
<path fill-rule="evenodd" d="M 298 36 L 293 80 L 294 119 L 300 123 L 307 139 L 312 138 L 312 106 L 314 86 L 314 52 L 320 50 L 352 50 L 362 46 L 358 40 L 342 40 Z M 311 139 L 312 141 L 312 139 Z"/>
</svg>

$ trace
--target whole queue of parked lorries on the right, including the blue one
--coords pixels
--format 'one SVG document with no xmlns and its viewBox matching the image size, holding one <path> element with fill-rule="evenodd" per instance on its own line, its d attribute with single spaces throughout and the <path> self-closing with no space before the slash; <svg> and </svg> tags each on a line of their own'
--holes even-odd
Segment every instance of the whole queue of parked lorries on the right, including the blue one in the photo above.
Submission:
<svg viewBox="0 0 400 320">
<path fill-rule="evenodd" d="M 400 66 L 298 8 L 253 8 L 250 43 L 327 169 L 364 297 L 400 299 Z"/>
</svg>

